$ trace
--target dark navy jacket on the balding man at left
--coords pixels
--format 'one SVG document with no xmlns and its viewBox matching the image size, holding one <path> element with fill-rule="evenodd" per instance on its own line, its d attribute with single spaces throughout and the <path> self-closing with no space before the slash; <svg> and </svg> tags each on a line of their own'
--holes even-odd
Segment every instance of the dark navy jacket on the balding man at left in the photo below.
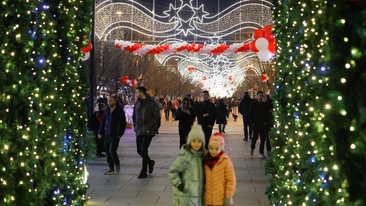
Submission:
<svg viewBox="0 0 366 206">
<path fill-rule="evenodd" d="M 126 125 L 126 116 L 124 115 L 123 109 L 116 107 L 111 114 L 111 108 L 105 107 L 103 120 L 100 124 L 98 135 L 105 135 L 107 137 L 122 137 L 124 131 L 126 131 Z"/>
</svg>

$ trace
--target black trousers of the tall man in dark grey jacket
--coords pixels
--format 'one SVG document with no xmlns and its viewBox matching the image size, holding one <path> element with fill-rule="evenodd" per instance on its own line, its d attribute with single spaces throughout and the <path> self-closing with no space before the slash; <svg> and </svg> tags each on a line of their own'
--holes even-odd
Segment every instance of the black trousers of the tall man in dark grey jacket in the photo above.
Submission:
<svg viewBox="0 0 366 206">
<path fill-rule="evenodd" d="M 149 157 L 149 151 L 147 151 L 152 139 L 153 139 L 152 135 L 136 136 L 137 153 L 142 157 L 141 173 L 146 173 L 147 165 L 151 164 L 152 162 L 152 160 Z"/>
</svg>

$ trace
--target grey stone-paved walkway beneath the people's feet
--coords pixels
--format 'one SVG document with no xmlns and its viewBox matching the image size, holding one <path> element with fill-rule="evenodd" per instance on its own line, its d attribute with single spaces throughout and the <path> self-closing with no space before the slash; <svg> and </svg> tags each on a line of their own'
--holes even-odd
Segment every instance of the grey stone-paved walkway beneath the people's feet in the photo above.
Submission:
<svg viewBox="0 0 366 206">
<path fill-rule="evenodd" d="M 231 115 L 231 114 L 230 114 Z M 195 122 L 197 124 L 197 122 Z M 236 175 L 235 206 L 269 205 L 264 194 L 269 184 L 265 176 L 264 163 L 260 159 L 259 141 L 254 155 L 249 155 L 250 141 L 243 141 L 243 121 L 230 117 L 225 128 L 225 153 L 232 160 Z M 218 125 L 214 126 L 218 132 Z M 141 170 L 142 158 L 136 151 L 136 137 L 132 129 L 127 129 L 120 140 L 117 152 L 120 157 L 121 172 L 107 175 L 105 158 L 95 158 L 88 162 L 89 184 L 87 206 L 171 206 L 173 186 L 169 181 L 168 169 L 179 153 L 178 122 L 165 121 L 162 118 L 159 135 L 156 135 L 149 147 L 149 156 L 156 163 L 152 174 L 146 179 L 137 179 Z M 265 152 L 266 154 L 266 152 Z"/>
</svg>

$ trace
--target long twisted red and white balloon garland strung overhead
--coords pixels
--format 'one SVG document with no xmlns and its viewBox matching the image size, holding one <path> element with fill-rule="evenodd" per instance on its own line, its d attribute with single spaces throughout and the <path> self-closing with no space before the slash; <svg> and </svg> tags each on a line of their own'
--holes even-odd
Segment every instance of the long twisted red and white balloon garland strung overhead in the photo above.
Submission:
<svg viewBox="0 0 366 206">
<path fill-rule="evenodd" d="M 234 54 L 237 52 L 249 51 L 250 43 L 234 43 L 227 44 L 208 44 L 203 46 L 201 44 L 188 44 L 186 42 L 166 44 L 166 45 L 151 45 L 151 44 L 137 44 L 130 41 L 115 40 L 115 47 L 120 48 L 136 54 L 175 54 L 181 51 L 197 52 L 197 54 Z"/>
</svg>

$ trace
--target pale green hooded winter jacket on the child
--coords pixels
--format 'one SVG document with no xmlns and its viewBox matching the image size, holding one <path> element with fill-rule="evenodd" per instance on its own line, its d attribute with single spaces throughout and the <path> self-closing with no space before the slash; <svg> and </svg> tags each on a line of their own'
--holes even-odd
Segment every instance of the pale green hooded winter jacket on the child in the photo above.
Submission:
<svg viewBox="0 0 366 206">
<path fill-rule="evenodd" d="M 168 175 L 173 185 L 173 206 L 203 206 L 205 194 L 205 174 L 203 171 L 202 151 L 187 150 L 184 144 L 178 158 L 170 166 Z M 185 184 L 183 191 L 178 189 Z"/>
</svg>

